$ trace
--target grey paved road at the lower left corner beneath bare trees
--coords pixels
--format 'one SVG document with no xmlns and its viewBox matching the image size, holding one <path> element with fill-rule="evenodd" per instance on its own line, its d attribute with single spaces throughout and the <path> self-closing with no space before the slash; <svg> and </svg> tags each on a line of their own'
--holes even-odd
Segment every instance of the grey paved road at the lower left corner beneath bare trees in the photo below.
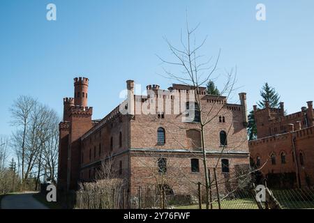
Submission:
<svg viewBox="0 0 314 223">
<path fill-rule="evenodd" d="M 43 203 L 33 198 L 36 192 L 24 192 L 8 195 L 1 200 L 2 209 L 48 209 Z"/>
</svg>

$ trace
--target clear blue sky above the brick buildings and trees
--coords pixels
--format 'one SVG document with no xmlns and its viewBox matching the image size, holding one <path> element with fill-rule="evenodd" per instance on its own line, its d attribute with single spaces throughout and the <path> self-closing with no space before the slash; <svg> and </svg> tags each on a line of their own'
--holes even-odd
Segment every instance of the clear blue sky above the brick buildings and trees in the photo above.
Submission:
<svg viewBox="0 0 314 223">
<path fill-rule="evenodd" d="M 48 3 L 56 4 L 57 21 L 46 20 Z M 265 22 L 255 20 L 257 3 L 266 6 Z M 118 105 L 126 79 L 166 89 L 172 81 L 157 75 L 156 54 L 169 55 L 163 36 L 179 43 L 186 9 L 191 26 L 200 22 L 197 38 L 209 36 L 204 54 L 216 56 L 221 48 L 218 68 L 237 66 L 249 107 L 269 82 L 287 112 L 298 112 L 314 100 L 313 8 L 311 0 L 1 0 L 0 134 L 13 130 L 8 108 L 19 95 L 32 95 L 61 116 L 73 77 L 89 77 L 94 118 Z"/>
</svg>

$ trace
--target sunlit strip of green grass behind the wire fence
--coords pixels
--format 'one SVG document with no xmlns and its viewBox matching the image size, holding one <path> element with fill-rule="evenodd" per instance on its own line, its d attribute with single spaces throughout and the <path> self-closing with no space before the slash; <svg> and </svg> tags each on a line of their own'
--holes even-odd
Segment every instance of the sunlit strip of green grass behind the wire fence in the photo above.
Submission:
<svg viewBox="0 0 314 223">
<path fill-rule="evenodd" d="M 237 200 L 224 200 L 220 201 L 221 209 L 257 209 L 257 205 L 253 199 L 237 199 Z M 198 204 L 189 206 L 176 206 L 175 209 L 198 209 Z M 203 203 L 202 208 L 205 209 L 206 205 Z M 213 203 L 213 209 L 218 209 L 218 203 Z"/>
</svg>

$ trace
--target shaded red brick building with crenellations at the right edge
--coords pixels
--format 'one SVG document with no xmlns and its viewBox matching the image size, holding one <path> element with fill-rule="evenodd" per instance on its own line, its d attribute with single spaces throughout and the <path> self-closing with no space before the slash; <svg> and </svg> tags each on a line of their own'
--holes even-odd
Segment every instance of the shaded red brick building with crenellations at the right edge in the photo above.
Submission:
<svg viewBox="0 0 314 223">
<path fill-rule="evenodd" d="M 251 162 L 262 168 L 271 186 L 298 187 L 314 184 L 313 102 L 300 112 L 285 115 L 280 108 L 254 108 L 257 139 L 249 141 Z"/>
</svg>

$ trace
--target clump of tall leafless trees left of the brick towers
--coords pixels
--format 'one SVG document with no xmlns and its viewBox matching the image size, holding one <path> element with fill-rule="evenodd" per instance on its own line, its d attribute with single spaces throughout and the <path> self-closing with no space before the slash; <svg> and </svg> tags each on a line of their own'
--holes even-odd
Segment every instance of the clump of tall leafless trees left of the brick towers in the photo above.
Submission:
<svg viewBox="0 0 314 223">
<path fill-rule="evenodd" d="M 12 145 L 17 160 L 22 160 L 22 190 L 29 176 L 36 178 L 35 190 L 40 177 L 48 167 L 50 178 L 55 182 L 57 169 L 59 117 L 53 109 L 30 97 L 21 96 L 10 109 L 17 130 L 13 133 Z"/>
</svg>

